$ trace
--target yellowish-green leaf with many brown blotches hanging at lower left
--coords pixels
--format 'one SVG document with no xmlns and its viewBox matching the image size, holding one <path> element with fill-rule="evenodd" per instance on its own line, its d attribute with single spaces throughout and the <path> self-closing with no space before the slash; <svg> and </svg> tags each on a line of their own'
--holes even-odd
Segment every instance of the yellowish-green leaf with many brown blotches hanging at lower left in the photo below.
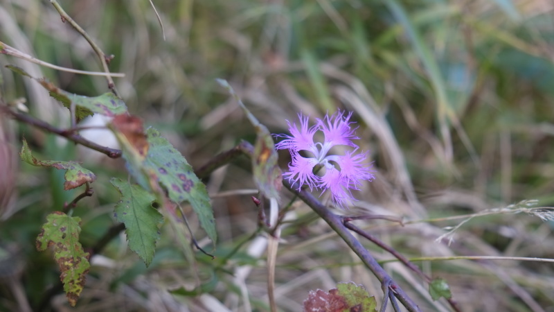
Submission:
<svg viewBox="0 0 554 312">
<path fill-rule="evenodd" d="M 46 222 L 37 236 L 37 250 L 54 249 L 54 259 L 60 266 L 60 279 L 71 306 L 75 306 L 84 287 L 85 275 L 89 272 L 89 253 L 79 243 L 81 232 L 79 217 L 70 217 L 55 211 L 46 217 Z"/>
</svg>

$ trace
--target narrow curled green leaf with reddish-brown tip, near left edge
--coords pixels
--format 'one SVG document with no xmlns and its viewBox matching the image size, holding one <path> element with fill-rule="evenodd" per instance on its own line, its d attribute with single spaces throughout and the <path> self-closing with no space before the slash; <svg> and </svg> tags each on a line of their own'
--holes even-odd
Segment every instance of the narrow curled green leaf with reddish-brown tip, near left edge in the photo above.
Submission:
<svg viewBox="0 0 554 312">
<path fill-rule="evenodd" d="M 21 159 L 33 166 L 41 167 L 54 167 L 60 170 L 66 170 L 64 175 L 64 190 L 75 189 L 87 182 L 92 183 L 96 180 L 96 175 L 89 171 L 89 169 L 83 168 L 77 162 L 62 162 L 57 160 L 38 160 L 30 153 L 27 141 L 23 139 L 23 146 L 21 147 L 21 153 L 19 153 Z"/>
</svg>

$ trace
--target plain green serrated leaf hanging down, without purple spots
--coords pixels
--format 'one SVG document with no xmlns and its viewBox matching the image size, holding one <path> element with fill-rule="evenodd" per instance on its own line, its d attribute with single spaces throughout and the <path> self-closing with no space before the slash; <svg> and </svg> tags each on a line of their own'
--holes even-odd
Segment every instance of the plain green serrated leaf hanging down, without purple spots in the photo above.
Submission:
<svg viewBox="0 0 554 312">
<path fill-rule="evenodd" d="M 156 197 L 136 184 L 116 178 L 109 182 L 121 193 L 114 212 L 116 219 L 125 223 L 129 248 L 143 259 L 146 266 L 150 266 L 160 236 L 159 227 L 163 223 L 163 216 L 152 207 Z"/>
</svg>

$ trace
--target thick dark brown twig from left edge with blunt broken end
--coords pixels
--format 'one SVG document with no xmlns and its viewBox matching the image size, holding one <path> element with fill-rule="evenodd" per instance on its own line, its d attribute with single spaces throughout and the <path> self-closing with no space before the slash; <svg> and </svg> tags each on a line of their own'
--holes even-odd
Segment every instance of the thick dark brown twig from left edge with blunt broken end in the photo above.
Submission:
<svg viewBox="0 0 554 312">
<path fill-rule="evenodd" d="M 93 150 L 98 150 L 100 153 L 106 154 L 110 158 L 119 158 L 121 157 L 121 150 L 118 150 L 116 148 L 109 148 L 106 146 L 100 146 L 92 141 L 89 141 L 85 139 L 84 137 L 81 137 L 80 135 L 76 135 L 72 133 L 72 131 L 62 130 L 59 128 L 55 128 L 53 125 L 50 125 L 49 123 L 46 123 L 40 119 L 36 119 L 33 116 L 30 116 L 28 114 L 21 114 L 19 112 L 14 112 L 13 110 L 10 110 L 9 107 L 6 105 L 0 105 L 0 112 L 3 112 L 7 114 L 8 116 L 12 117 L 13 119 L 17 121 L 21 121 L 23 123 L 27 123 L 28 125 L 33 125 L 37 128 L 40 128 L 42 130 L 45 130 L 47 132 L 55 133 L 56 135 L 60 135 L 61 137 L 65 137 L 66 139 L 69 139 L 70 141 L 73 141 L 75 143 L 81 144 L 82 146 L 87 146 L 87 148 L 91 148 Z"/>
</svg>

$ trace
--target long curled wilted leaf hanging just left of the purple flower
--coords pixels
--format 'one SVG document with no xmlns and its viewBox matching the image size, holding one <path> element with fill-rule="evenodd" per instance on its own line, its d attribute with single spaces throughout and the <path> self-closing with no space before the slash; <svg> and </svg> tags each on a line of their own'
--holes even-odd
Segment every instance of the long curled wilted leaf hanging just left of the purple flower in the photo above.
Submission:
<svg viewBox="0 0 554 312">
<path fill-rule="evenodd" d="M 256 131 L 256 143 L 254 144 L 254 155 L 252 157 L 252 171 L 258 189 L 260 189 L 267 198 L 278 199 L 279 191 L 281 187 L 283 187 L 283 175 L 277 164 L 278 154 L 275 150 L 275 144 L 273 137 L 271 137 L 271 133 L 267 130 L 265 125 L 262 125 L 247 109 L 226 80 L 217 79 L 217 83 L 220 83 L 222 87 L 226 88 L 229 93 L 231 93 Z"/>
</svg>

